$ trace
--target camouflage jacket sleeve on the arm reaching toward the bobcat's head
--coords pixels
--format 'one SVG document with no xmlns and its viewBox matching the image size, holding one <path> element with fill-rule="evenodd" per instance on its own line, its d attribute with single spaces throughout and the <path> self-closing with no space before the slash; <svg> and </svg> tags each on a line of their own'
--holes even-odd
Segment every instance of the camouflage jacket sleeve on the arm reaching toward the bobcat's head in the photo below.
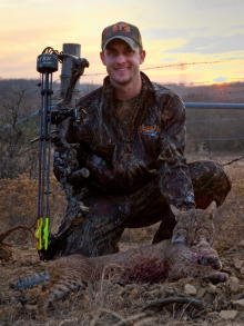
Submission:
<svg viewBox="0 0 244 326">
<path fill-rule="evenodd" d="M 194 207 L 194 191 L 184 157 L 185 108 L 174 93 L 161 102 L 160 189 L 170 205 Z"/>
</svg>

